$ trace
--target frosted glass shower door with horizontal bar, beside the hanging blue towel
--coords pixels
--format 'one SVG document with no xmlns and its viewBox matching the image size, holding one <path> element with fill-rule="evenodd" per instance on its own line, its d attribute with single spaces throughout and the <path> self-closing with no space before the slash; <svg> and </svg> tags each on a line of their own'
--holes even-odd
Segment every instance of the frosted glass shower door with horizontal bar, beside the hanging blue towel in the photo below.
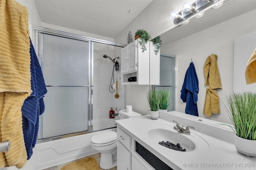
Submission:
<svg viewBox="0 0 256 170">
<path fill-rule="evenodd" d="M 90 57 L 88 41 L 38 33 L 38 57 L 48 93 L 38 139 L 88 131 Z"/>
</svg>

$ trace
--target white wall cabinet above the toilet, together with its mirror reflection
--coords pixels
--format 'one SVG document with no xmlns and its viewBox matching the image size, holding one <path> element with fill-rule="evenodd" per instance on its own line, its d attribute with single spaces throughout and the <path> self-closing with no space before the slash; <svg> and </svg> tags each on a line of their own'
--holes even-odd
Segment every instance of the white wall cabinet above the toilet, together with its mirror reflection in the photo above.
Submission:
<svg viewBox="0 0 256 170">
<path fill-rule="evenodd" d="M 141 46 L 136 39 L 121 50 L 121 79 L 122 85 L 154 84 L 160 80 L 160 53 L 154 53 L 154 45 L 150 41 L 146 44 L 146 51 L 142 53 Z M 136 77 L 136 82 L 129 82 L 128 78 Z"/>
</svg>

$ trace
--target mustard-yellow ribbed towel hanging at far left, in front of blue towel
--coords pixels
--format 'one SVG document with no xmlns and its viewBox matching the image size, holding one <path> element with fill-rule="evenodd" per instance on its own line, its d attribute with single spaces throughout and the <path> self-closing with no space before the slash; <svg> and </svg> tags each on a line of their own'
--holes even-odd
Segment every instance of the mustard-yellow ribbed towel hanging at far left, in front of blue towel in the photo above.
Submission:
<svg viewBox="0 0 256 170">
<path fill-rule="evenodd" d="M 11 142 L 0 153 L 0 168 L 22 168 L 27 160 L 21 107 L 32 92 L 29 50 L 27 8 L 0 0 L 0 142 Z"/>
</svg>

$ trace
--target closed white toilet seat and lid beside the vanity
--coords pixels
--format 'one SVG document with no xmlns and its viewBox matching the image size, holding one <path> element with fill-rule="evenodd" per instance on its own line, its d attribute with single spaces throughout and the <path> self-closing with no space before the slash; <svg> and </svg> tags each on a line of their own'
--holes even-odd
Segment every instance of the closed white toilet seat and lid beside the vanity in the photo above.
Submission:
<svg viewBox="0 0 256 170">
<path fill-rule="evenodd" d="M 111 145 L 117 141 L 117 135 L 114 131 L 106 131 L 94 135 L 91 142 L 95 146 Z"/>
</svg>

